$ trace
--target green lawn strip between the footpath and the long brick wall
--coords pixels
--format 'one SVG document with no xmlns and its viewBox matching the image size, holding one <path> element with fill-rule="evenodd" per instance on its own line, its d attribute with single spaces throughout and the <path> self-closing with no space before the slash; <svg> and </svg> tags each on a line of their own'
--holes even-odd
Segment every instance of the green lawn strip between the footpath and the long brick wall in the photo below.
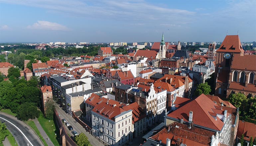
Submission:
<svg viewBox="0 0 256 146">
<path fill-rule="evenodd" d="M 46 119 L 43 115 L 43 113 L 40 113 L 40 116 L 37 118 L 43 129 L 45 130 L 46 134 L 49 136 L 51 141 L 54 145 L 60 145 L 60 131 L 57 126 L 57 124 L 54 122 L 54 120 Z M 56 134 L 56 135 L 55 135 Z"/>
</svg>

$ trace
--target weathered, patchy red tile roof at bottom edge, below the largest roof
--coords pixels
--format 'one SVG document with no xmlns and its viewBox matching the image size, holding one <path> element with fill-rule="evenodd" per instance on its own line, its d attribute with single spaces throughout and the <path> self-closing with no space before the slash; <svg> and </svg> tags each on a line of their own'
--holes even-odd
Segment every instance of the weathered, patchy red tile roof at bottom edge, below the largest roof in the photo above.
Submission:
<svg viewBox="0 0 256 146">
<path fill-rule="evenodd" d="M 169 128 L 170 130 L 168 131 Z M 189 128 L 186 124 L 173 122 L 169 126 L 165 126 L 157 134 L 149 137 L 149 139 L 157 142 L 162 140 L 162 143 L 166 144 L 166 139 L 169 138 L 171 139 L 171 145 L 179 145 L 177 143 L 179 138 L 181 143 L 183 140 L 183 144 L 188 146 L 209 146 L 212 135 L 215 135 L 215 132 L 194 126 Z"/>
</svg>

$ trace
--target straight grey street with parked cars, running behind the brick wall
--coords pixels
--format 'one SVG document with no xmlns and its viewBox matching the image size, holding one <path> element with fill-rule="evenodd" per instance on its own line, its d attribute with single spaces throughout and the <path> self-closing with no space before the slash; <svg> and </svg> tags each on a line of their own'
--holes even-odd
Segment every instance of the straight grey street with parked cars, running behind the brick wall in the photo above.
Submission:
<svg viewBox="0 0 256 146">
<path fill-rule="evenodd" d="M 71 117 L 70 115 L 65 113 L 65 111 L 63 109 L 61 109 L 57 104 L 55 104 L 55 107 L 56 107 L 58 113 L 60 114 L 60 118 L 61 119 L 65 118 L 66 121 L 69 122 L 69 124 L 73 127 L 73 130 L 75 130 L 78 134 L 84 133 L 88 137 L 88 140 L 91 142 L 91 144 L 93 146 L 94 145 L 95 146 L 104 146 L 95 137 L 93 137 L 91 134 L 86 132 L 86 130 L 77 121 L 75 121 L 75 119 L 73 117 Z M 65 124 L 64 124 L 64 127 L 65 127 L 66 131 L 68 131 L 71 138 L 73 138 L 74 135 L 71 133 L 71 131 L 73 131 L 73 130 L 68 130 L 68 128 Z"/>
</svg>

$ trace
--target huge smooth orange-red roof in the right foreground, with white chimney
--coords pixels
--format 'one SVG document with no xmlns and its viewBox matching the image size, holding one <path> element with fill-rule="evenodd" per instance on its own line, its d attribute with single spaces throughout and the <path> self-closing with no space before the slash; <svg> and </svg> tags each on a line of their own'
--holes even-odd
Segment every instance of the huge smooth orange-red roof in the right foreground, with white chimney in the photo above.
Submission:
<svg viewBox="0 0 256 146">
<path fill-rule="evenodd" d="M 204 94 L 201 94 L 193 101 L 171 112 L 170 114 L 168 114 L 168 116 L 178 120 L 183 118 L 185 122 L 188 122 L 190 111 L 193 112 L 192 121 L 195 125 L 217 131 L 221 131 L 222 127 L 224 126 L 224 122 L 218 116 L 214 117 L 211 114 L 223 114 L 224 110 L 221 110 L 221 107 L 217 106 Z M 227 116 L 229 116 L 229 113 L 227 113 Z"/>
</svg>

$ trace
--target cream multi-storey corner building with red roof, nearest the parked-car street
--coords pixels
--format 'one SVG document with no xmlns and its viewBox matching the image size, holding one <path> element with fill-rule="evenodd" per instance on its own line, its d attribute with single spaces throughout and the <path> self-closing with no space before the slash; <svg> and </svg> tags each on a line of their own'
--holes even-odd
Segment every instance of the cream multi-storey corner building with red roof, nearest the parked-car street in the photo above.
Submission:
<svg viewBox="0 0 256 146">
<path fill-rule="evenodd" d="M 92 134 L 108 145 L 128 145 L 133 138 L 132 109 L 101 102 L 91 110 Z"/>
</svg>

